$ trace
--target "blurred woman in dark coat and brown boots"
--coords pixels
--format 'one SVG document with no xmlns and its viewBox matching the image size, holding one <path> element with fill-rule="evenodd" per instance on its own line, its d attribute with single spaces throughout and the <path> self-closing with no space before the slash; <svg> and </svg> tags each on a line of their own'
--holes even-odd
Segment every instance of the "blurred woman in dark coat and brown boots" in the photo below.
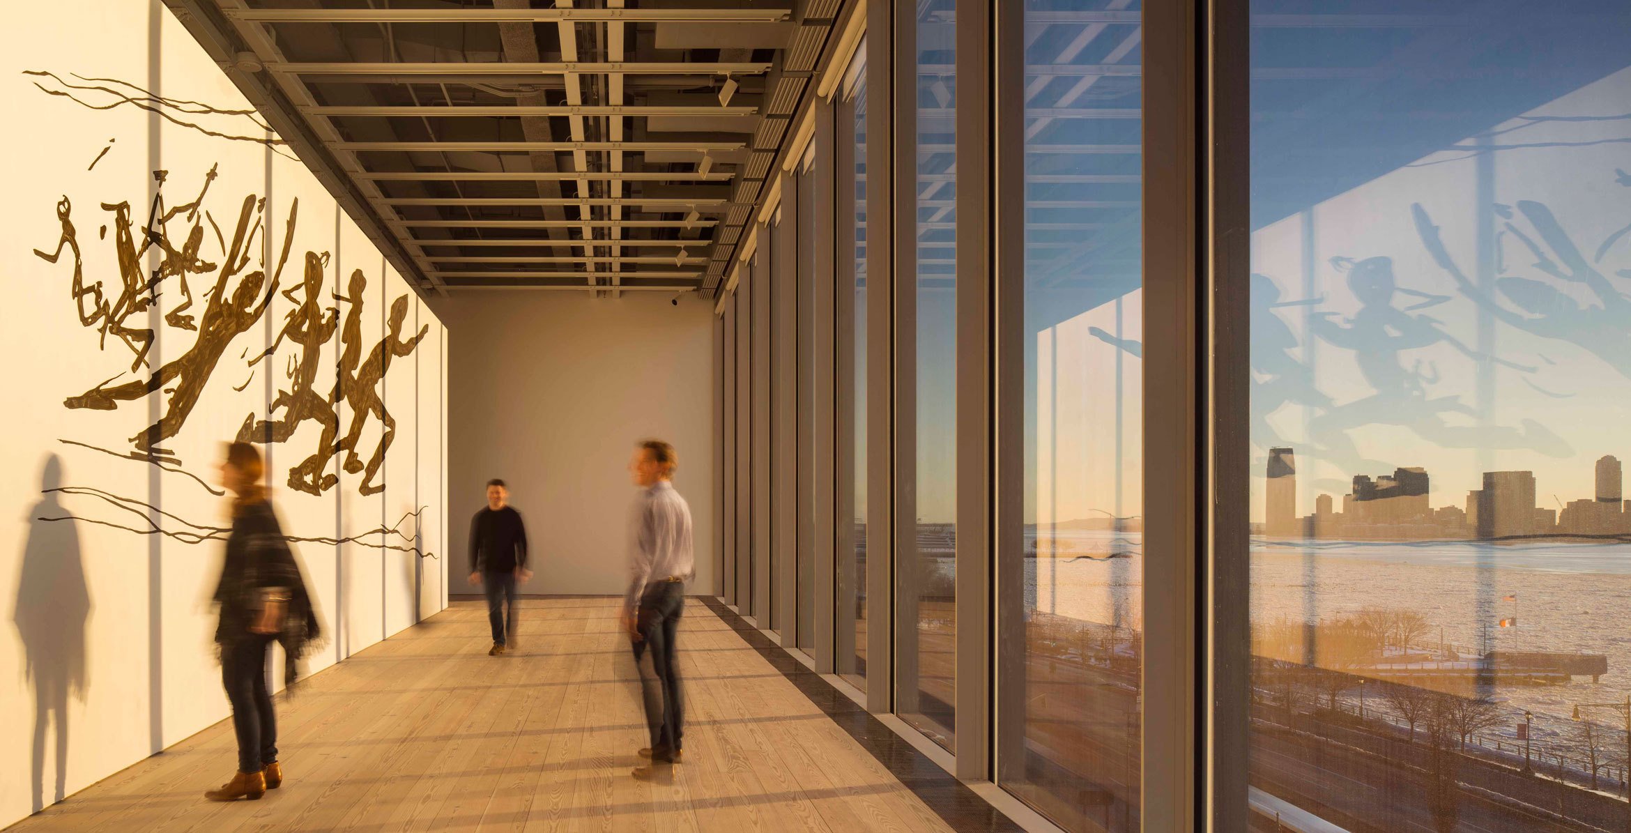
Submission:
<svg viewBox="0 0 1631 833">
<path fill-rule="evenodd" d="M 220 606 L 215 644 L 238 735 L 238 773 L 204 796 L 254 800 L 284 781 L 277 763 L 277 717 L 266 690 L 266 650 L 272 642 L 284 646 L 285 685 L 294 683 L 295 660 L 318 637 L 318 621 L 289 540 L 266 497 L 261 453 L 245 442 L 228 443 L 220 474 L 233 502 L 227 561 L 215 585 Z"/>
</svg>

